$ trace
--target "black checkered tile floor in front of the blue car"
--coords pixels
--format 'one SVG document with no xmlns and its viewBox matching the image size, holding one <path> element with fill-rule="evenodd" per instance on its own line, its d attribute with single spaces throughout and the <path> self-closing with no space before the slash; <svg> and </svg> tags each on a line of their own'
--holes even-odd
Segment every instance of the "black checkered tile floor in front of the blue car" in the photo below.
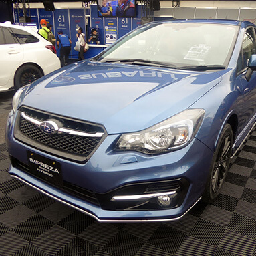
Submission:
<svg viewBox="0 0 256 256">
<path fill-rule="evenodd" d="M 98 223 L 8 174 L 0 144 L 0 255 L 256 255 L 256 132 L 212 205 L 179 221 Z"/>
</svg>

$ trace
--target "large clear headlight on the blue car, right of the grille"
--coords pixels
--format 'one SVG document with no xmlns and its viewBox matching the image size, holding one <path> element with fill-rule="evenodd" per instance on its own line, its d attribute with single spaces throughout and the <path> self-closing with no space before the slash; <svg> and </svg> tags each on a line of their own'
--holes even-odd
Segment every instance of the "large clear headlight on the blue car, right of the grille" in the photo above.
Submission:
<svg viewBox="0 0 256 256">
<path fill-rule="evenodd" d="M 194 138 L 204 116 L 203 109 L 184 110 L 141 132 L 122 134 L 116 149 L 161 154 L 182 148 Z"/>
</svg>

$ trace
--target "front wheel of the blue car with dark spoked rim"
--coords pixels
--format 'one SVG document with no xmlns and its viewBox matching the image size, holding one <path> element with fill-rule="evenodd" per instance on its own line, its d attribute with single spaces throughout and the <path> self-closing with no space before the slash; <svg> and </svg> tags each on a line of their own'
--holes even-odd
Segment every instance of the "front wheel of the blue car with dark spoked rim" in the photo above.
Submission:
<svg viewBox="0 0 256 256">
<path fill-rule="evenodd" d="M 226 124 L 221 132 L 215 153 L 213 154 L 207 184 L 202 197 L 205 203 L 213 203 L 221 191 L 227 172 L 229 171 L 232 146 L 233 131 L 230 124 Z"/>
</svg>

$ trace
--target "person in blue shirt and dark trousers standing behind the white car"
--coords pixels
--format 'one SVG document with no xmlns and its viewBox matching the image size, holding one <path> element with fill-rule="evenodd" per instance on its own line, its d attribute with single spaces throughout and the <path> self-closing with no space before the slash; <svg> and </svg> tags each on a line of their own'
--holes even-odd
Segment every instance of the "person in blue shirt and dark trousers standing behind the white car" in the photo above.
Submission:
<svg viewBox="0 0 256 256">
<path fill-rule="evenodd" d="M 68 35 L 63 34 L 63 31 L 59 29 L 57 31 L 57 47 L 60 47 L 60 63 L 61 67 L 68 65 L 68 55 L 70 54 L 71 50 L 71 40 Z"/>
</svg>

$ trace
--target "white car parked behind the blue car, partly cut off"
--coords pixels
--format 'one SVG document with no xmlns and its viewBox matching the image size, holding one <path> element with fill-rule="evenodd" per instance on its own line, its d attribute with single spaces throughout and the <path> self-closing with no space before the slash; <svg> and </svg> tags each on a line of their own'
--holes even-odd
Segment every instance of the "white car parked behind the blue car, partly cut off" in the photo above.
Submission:
<svg viewBox="0 0 256 256">
<path fill-rule="evenodd" d="M 15 90 L 61 67 L 53 45 L 30 27 L 0 23 L 0 92 Z"/>
</svg>

